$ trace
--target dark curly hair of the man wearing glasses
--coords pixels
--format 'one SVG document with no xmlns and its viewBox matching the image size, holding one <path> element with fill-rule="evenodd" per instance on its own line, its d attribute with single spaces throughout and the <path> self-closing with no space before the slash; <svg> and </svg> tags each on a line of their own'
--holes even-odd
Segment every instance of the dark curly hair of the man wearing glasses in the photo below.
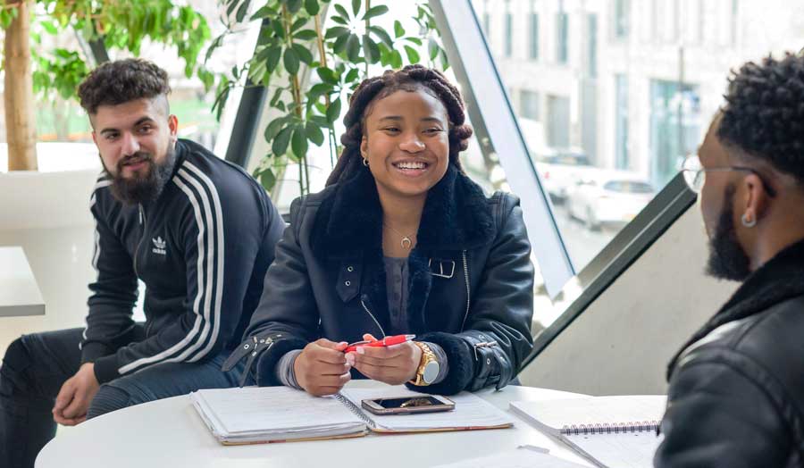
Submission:
<svg viewBox="0 0 804 468">
<path fill-rule="evenodd" d="M 733 72 L 717 137 L 804 183 L 804 55 Z"/>
</svg>

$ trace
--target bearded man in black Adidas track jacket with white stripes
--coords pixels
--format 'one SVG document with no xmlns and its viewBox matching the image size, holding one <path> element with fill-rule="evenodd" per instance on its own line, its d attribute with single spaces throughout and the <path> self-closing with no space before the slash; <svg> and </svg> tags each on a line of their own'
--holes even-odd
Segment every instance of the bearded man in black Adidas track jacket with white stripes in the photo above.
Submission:
<svg viewBox="0 0 804 468">
<path fill-rule="evenodd" d="M 284 230 L 247 172 L 177 138 L 167 73 L 105 63 L 79 88 L 104 166 L 86 328 L 24 335 L 0 367 L 0 466 L 33 466 L 55 434 L 119 408 L 238 385 L 222 372 Z M 138 282 L 146 322 L 134 322 Z M 247 376 L 248 377 L 248 376 Z M 247 380 L 248 381 L 248 380 Z"/>
</svg>

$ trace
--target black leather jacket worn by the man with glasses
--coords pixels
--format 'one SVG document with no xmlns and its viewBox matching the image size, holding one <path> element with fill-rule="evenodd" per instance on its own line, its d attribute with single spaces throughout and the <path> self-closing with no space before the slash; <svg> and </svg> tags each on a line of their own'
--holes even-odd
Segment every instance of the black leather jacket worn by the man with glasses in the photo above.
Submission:
<svg viewBox="0 0 804 468">
<path fill-rule="evenodd" d="M 671 372 L 657 467 L 804 465 L 804 243 L 754 272 Z"/>
</svg>

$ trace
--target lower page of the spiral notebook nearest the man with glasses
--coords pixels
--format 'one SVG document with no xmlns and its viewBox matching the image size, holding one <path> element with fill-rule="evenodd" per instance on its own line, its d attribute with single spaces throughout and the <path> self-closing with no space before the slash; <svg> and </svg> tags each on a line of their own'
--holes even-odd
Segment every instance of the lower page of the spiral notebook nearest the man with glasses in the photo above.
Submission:
<svg viewBox="0 0 804 468">
<path fill-rule="evenodd" d="M 653 455 L 662 440 L 653 431 L 571 435 L 561 436 L 561 439 L 581 455 L 607 468 L 652 468 Z"/>
</svg>

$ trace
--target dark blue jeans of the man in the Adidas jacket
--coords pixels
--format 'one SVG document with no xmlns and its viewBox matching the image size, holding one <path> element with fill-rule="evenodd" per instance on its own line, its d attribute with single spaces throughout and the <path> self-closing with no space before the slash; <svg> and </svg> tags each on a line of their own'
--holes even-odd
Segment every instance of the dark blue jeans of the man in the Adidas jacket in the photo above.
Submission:
<svg viewBox="0 0 804 468">
<path fill-rule="evenodd" d="M 65 380 L 80 367 L 83 329 L 24 335 L 5 351 L 0 367 L 0 467 L 29 468 L 53 439 L 51 410 Z M 102 385 L 89 406 L 88 419 L 126 406 L 186 395 L 197 389 L 237 387 L 240 363 L 231 372 L 222 352 L 203 363 L 155 364 Z M 249 378 L 247 384 L 253 385 Z"/>
</svg>

